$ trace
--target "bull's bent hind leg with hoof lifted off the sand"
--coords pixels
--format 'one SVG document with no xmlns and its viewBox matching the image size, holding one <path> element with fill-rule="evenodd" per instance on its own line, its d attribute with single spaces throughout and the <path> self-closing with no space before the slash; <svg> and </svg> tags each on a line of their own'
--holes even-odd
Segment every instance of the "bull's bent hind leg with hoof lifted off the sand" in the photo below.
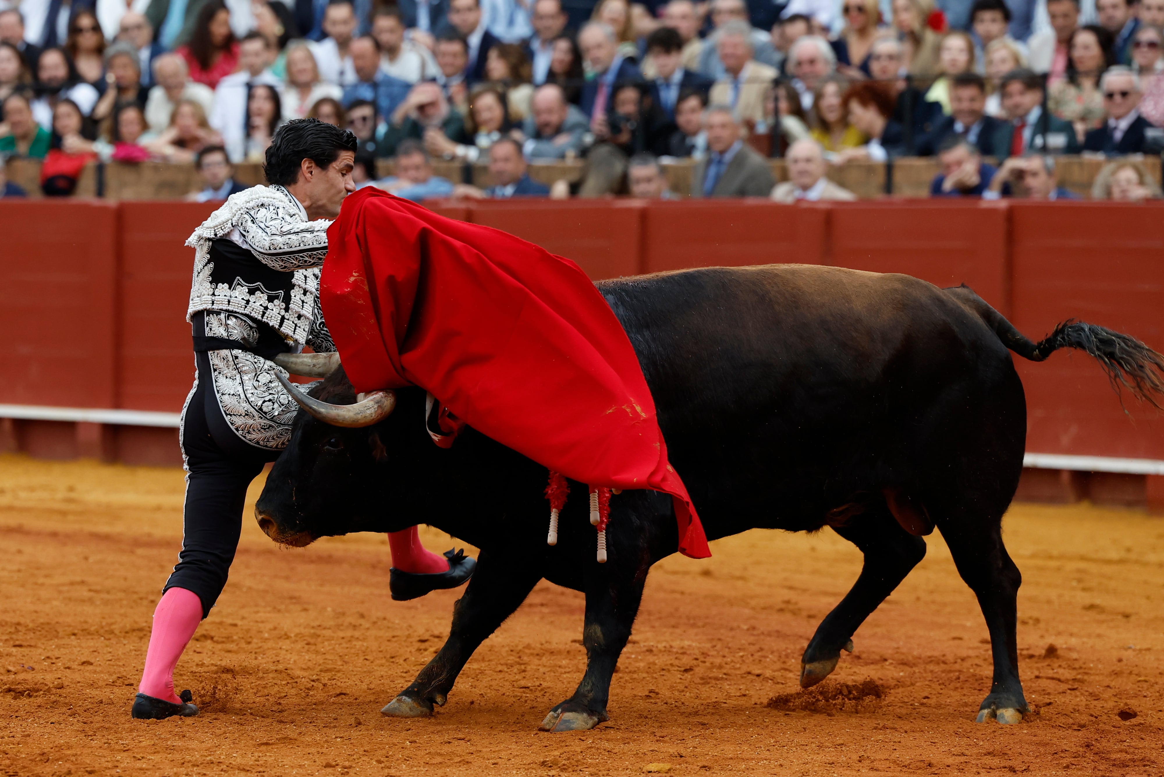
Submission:
<svg viewBox="0 0 1164 777">
<path fill-rule="evenodd" d="M 840 650 L 853 649 L 853 633 L 925 557 L 925 540 L 902 529 L 885 504 L 833 530 L 861 549 L 865 565 L 853 587 L 821 621 L 804 649 L 801 687 L 816 685 L 836 669 Z"/>
</svg>

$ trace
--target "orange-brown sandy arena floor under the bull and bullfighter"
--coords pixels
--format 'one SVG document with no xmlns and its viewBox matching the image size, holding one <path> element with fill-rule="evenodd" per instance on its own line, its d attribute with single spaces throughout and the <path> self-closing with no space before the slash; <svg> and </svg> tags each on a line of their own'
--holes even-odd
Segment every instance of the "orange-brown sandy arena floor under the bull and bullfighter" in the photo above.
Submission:
<svg viewBox="0 0 1164 777">
<path fill-rule="evenodd" d="M 1020 726 L 973 722 L 986 629 L 937 534 L 833 673 L 883 698 L 767 706 L 797 691 L 801 651 L 860 554 L 829 530 L 752 532 L 710 561 L 656 565 L 611 721 L 540 734 L 582 675 L 580 593 L 541 584 L 435 718 L 386 719 L 459 594 L 393 603 L 383 536 L 284 550 L 249 507 L 226 593 L 178 664 L 204 714 L 130 720 L 182 493 L 178 470 L 0 457 L 0 775 L 1164 774 L 1164 520 L 1141 513 L 1007 516 L 1038 711 Z"/>
</svg>

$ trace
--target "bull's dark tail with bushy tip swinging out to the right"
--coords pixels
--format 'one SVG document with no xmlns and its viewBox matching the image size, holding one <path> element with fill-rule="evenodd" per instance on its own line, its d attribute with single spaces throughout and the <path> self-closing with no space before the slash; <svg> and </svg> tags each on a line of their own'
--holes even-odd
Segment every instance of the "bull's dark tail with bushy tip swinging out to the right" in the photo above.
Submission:
<svg viewBox="0 0 1164 777">
<path fill-rule="evenodd" d="M 1137 399 L 1164 409 L 1164 355 L 1158 354 L 1135 337 L 1098 327 L 1093 323 L 1067 319 L 1039 342 L 1032 342 L 1001 313 L 986 304 L 968 286 L 947 288 L 958 301 L 970 307 L 986 326 L 991 327 L 1002 344 L 1031 362 L 1042 362 L 1060 348 L 1074 348 L 1095 358 L 1116 393 L 1127 388 Z"/>
</svg>

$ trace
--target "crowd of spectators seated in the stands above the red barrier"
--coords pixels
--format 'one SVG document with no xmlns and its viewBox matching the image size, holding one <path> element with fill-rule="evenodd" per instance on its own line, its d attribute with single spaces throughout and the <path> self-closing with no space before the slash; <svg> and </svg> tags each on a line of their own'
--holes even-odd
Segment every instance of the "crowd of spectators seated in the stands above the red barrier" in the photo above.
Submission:
<svg viewBox="0 0 1164 777">
<path fill-rule="evenodd" d="M 935 197 L 1057 199 L 1077 154 L 1128 157 L 1094 195 L 1147 199 L 1162 27 L 1164 0 L 0 0 L 0 155 L 43 159 L 45 194 L 155 161 L 218 199 L 311 116 L 356 134 L 359 185 L 416 200 L 669 198 L 672 159 L 696 198 L 852 199 L 830 165 L 914 156 Z"/>
</svg>

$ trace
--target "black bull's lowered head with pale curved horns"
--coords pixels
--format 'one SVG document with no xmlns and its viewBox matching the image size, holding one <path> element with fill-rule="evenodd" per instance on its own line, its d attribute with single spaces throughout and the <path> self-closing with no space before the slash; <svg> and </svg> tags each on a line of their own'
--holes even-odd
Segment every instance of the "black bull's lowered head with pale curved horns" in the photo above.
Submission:
<svg viewBox="0 0 1164 777">
<path fill-rule="evenodd" d="M 279 376 L 304 412 L 296 418 L 291 440 L 255 505 L 260 528 L 276 542 L 294 547 L 320 536 L 392 530 L 386 526 L 385 514 L 391 511 L 386 494 L 390 483 L 398 483 L 393 473 L 407 477 L 409 469 L 402 445 L 393 447 L 393 463 L 384 444 L 386 435 L 395 434 L 388 427 L 398 426 L 391 418 L 396 392 L 356 397 L 332 355 L 286 355 L 276 361 L 297 375 L 329 373 L 310 394 Z M 405 398 L 410 405 L 416 402 L 411 393 Z M 423 395 L 419 401 L 423 406 Z M 395 528 L 409 525 L 404 521 Z"/>
</svg>

